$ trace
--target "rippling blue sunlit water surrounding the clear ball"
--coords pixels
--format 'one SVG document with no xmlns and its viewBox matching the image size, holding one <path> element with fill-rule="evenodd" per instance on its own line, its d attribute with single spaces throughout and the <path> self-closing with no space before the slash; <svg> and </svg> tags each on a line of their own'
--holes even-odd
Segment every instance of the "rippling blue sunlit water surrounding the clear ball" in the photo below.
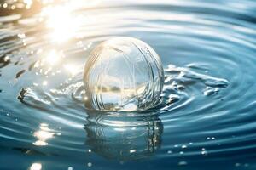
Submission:
<svg viewBox="0 0 256 170">
<path fill-rule="evenodd" d="M 0 169 L 256 169 L 255 1 L 1 1 Z M 85 111 L 90 51 L 136 37 L 163 105 Z"/>
</svg>

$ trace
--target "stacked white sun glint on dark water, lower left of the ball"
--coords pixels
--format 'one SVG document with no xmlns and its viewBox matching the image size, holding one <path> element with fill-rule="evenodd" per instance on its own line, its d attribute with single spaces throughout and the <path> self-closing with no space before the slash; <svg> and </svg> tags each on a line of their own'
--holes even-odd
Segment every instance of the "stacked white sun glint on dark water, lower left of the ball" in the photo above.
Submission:
<svg viewBox="0 0 256 170">
<path fill-rule="evenodd" d="M 41 123 L 40 129 L 34 133 L 34 136 L 38 138 L 36 142 L 34 142 L 34 145 L 44 146 L 48 143 L 46 140 L 51 139 L 54 137 L 55 133 L 51 132 L 52 130 L 49 129 L 48 124 Z"/>
</svg>

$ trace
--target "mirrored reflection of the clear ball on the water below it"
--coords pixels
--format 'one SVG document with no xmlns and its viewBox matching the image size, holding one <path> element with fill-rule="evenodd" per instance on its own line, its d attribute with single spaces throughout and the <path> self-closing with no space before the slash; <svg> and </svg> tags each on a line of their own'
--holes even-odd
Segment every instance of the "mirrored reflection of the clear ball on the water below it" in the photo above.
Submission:
<svg viewBox="0 0 256 170">
<path fill-rule="evenodd" d="M 108 159 L 128 161 L 153 156 L 160 148 L 163 125 L 157 116 L 106 121 L 106 116 L 88 118 L 86 144 Z M 97 122 L 108 122 L 99 124 Z"/>
</svg>

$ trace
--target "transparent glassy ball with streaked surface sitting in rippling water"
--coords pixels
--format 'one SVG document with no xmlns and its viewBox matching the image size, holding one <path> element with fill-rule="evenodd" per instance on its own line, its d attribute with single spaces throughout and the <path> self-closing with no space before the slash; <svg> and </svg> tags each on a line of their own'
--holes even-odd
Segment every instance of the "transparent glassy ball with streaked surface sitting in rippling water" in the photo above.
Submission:
<svg viewBox="0 0 256 170">
<path fill-rule="evenodd" d="M 158 54 L 132 37 L 98 45 L 84 68 L 85 107 L 99 111 L 145 111 L 160 103 L 164 70 Z"/>
</svg>

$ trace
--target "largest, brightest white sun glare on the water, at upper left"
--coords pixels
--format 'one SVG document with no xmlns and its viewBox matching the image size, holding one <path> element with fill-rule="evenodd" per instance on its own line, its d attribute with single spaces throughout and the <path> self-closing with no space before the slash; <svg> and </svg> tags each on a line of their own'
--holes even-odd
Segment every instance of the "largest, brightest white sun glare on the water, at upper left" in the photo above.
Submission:
<svg viewBox="0 0 256 170">
<path fill-rule="evenodd" d="M 66 42 L 78 31 L 80 19 L 72 14 L 69 3 L 44 8 L 42 14 L 47 17 L 46 26 L 52 29 L 50 38 L 54 42 Z"/>
</svg>

